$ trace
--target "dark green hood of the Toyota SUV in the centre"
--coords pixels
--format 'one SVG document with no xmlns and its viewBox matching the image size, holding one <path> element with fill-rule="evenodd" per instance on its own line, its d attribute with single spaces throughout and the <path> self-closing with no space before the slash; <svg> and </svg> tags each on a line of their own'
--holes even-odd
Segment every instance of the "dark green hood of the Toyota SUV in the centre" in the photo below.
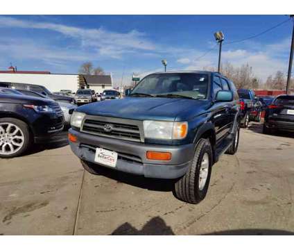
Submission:
<svg viewBox="0 0 294 250">
<path fill-rule="evenodd" d="M 207 100 L 162 97 L 126 97 L 112 101 L 99 101 L 80 106 L 78 112 L 126 119 L 157 119 L 188 121 L 209 108 Z"/>
</svg>

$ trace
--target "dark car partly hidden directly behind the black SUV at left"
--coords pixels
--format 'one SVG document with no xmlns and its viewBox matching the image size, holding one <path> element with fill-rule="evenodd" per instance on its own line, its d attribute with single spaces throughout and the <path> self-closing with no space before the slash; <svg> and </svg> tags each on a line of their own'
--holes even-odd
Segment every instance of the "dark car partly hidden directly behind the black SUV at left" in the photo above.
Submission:
<svg viewBox="0 0 294 250">
<path fill-rule="evenodd" d="M 63 102 L 74 104 L 73 97 L 66 97 L 60 94 L 53 94 L 42 85 L 35 85 L 35 84 L 28 84 L 28 83 L 6 83 L 6 85 L 3 85 L 3 87 L 14 88 L 17 90 L 31 90 L 31 91 L 38 92 L 40 94 L 44 94 L 44 96 L 50 97 L 54 101 L 63 101 Z"/>
</svg>

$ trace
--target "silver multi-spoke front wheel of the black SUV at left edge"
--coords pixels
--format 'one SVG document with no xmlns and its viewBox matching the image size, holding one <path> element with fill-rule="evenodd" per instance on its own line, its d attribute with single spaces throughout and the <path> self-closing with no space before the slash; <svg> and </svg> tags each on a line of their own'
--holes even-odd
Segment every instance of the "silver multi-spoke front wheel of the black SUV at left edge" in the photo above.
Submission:
<svg viewBox="0 0 294 250">
<path fill-rule="evenodd" d="M 28 125 L 15 118 L 0 118 L 0 158 L 20 156 L 31 146 Z"/>
</svg>

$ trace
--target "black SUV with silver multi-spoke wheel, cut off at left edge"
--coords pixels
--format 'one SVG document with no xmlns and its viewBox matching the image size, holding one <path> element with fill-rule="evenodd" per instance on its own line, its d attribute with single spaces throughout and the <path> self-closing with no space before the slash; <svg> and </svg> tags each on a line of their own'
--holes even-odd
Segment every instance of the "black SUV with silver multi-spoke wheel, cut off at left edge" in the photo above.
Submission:
<svg viewBox="0 0 294 250">
<path fill-rule="evenodd" d="M 64 123 L 57 102 L 11 91 L 0 90 L 0 158 L 19 156 L 33 143 L 50 142 Z"/>
</svg>

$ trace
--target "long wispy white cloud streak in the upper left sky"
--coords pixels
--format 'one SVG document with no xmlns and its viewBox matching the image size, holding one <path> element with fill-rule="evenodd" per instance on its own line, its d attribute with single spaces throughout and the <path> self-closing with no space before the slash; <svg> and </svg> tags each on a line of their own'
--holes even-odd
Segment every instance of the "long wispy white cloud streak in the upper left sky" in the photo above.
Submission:
<svg viewBox="0 0 294 250">
<path fill-rule="evenodd" d="M 120 58 L 123 53 L 134 53 L 136 50 L 153 51 L 155 49 L 155 44 L 146 38 L 145 33 L 135 30 L 117 33 L 104 28 L 77 28 L 62 24 L 30 22 L 12 17 L 0 17 L 0 27 L 55 31 L 80 40 L 83 47 L 96 48 L 101 55 L 113 58 Z"/>
</svg>

